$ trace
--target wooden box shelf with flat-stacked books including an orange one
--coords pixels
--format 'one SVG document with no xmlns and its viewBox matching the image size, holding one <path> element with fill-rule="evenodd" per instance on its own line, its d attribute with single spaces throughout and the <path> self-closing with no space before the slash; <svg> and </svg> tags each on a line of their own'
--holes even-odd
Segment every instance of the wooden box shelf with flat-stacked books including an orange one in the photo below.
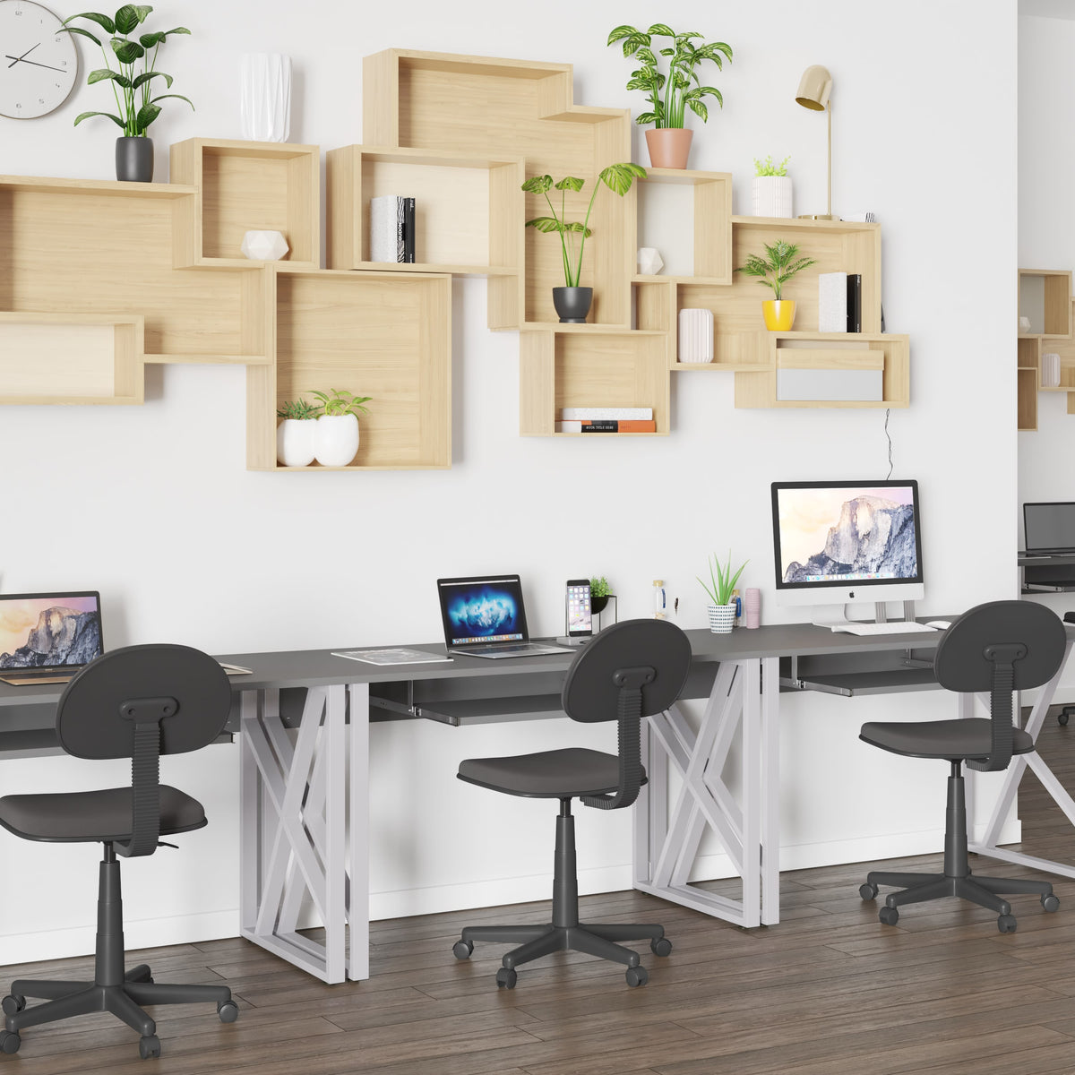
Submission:
<svg viewBox="0 0 1075 1075">
<path fill-rule="evenodd" d="M 524 436 L 654 436 L 669 432 L 666 333 L 560 328 L 519 336 L 519 432 Z M 557 433 L 561 410 L 572 406 L 651 407 L 657 431 Z"/>
</svg>

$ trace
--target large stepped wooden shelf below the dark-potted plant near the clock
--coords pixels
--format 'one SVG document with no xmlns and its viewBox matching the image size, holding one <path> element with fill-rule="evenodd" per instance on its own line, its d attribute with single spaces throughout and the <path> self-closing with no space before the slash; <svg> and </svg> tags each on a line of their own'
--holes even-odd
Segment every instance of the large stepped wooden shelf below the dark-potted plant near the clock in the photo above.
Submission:
<svg viewBox="0 0 1075 1075">
<path fill-rule="evenodd" d="M 175 214 L 197 194 L 0 176 L 0 311 L 143 316 L 147 361 L 269 361 L 259 272 L 173 269 Z"/>
</svg>

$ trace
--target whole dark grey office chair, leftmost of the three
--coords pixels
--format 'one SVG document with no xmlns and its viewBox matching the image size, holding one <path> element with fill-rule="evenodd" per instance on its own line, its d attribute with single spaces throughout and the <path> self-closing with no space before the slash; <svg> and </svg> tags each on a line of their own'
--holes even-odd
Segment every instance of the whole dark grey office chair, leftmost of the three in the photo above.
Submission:
<svg viewBox="0 0 1075 1075">
<path fill-rule="evenodd" d="M 159 783 L 160 755 L 185 754 L 224 730 L 231 687 L 220 665 L 187 646 L 114 649 L 87 664 L 60 697 L 56 734 L 76 758 L 130 758 L 131 786 L 101 791 L 4 796 L 0 825 L 24 840 L 100 843 L 97 957 L 92 981 L 19 979 L 2 1003 L 0 1049 L 17 1052 L 19 1031 L 89 1012 L 111 1012 L 141 1035 L 143 1059 L 160 1056 L 156 1023 L 141 1004 L 215 1003 L 221 1022 L 239 1007 L 225 986 L 155 983 L 145 963 L 124 971 L 124 912 L 117 855 L 153 855 L 160 836 L 205 826 L 197 799 Z M 174 845 L 167 845 L 174 846 Z M 46 1004 L 26 1007 L 26 998 Z"/>
</svg>

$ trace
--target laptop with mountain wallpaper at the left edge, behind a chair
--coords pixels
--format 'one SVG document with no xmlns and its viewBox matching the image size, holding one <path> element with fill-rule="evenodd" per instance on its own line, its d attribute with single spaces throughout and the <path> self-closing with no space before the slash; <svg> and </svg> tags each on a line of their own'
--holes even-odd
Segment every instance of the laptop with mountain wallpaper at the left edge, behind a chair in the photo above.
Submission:
<svg viewBox="0 0 1075 1075">
<path fill-rule="evenodd" d="M 68 683 L 102 653 L 101 596 L 96 590 L 0 593 L 3 683 Z"/>
</svg>

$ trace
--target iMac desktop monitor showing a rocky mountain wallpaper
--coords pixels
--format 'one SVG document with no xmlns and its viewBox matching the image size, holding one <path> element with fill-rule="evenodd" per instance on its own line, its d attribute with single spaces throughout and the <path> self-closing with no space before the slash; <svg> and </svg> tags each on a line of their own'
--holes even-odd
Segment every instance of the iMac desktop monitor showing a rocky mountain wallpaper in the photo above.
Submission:
<svg viewBox="0 0 1075 1075">
<path fill-rule="evenodd" d="M 776 600 L 783 605 L 923 596 L 917 482 L 774 482 Z"/>
</svg>

